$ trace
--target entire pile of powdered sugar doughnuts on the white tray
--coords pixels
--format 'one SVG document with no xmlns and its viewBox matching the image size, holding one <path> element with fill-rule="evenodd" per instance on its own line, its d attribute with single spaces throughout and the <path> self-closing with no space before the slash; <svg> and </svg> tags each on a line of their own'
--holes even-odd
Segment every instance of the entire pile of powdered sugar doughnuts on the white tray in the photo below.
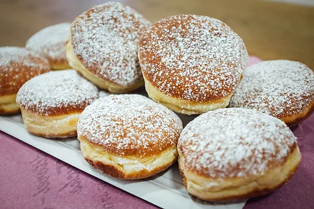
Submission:
<svg viewBox="0 0 314 209">
<path fill-rule="evenodd" d="M 147 178 L 178 160 L 190 194 L 247 199 L 292 178 L 301 154 L 287 125 L 314 111 L 306 65 L 247 63 L 243 40 L 220 20 L 174 15 L 151 25 L 104 3 L 39 31 L 26 48 L 0 47 L 0 114 L 21 110 L 41 137 L 77 136 L 84 159 L 108 176 Z M 151 99 L 98 96 L 96 87 L 128 93 L 143 84 Z M 184 128 L 173 111 L 202 115 Z"/>
</svg>

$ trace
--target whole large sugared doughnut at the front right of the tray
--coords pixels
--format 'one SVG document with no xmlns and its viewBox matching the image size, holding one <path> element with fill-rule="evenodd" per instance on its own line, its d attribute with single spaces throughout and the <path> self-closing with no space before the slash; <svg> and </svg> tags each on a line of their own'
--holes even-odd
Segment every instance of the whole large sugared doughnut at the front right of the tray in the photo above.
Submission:
<svg viewBox="0 0 314 209">
<path fill-rule="evenodd" d="M 178 142 L 190 194 L 237 201 L 273 192 L 292 178 L 301 153 L 282 121 L 251 109 L 218 109 L 189 123 Z"/>
</svg>

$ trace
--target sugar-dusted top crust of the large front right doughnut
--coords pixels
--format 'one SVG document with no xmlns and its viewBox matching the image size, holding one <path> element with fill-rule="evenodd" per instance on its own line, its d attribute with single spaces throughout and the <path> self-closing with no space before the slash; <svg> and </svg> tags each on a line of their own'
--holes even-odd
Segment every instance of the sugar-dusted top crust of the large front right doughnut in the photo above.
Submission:
<svg viewBox="0 0 314 209">
<path fill-rule="evenodd" d="M 188 123 L 178 142 L 184 167 L 210 178 L 260 175 L 285 163 L 297 137 L 277 118 L 252 109 L 218 109 Z"/>
</svg>

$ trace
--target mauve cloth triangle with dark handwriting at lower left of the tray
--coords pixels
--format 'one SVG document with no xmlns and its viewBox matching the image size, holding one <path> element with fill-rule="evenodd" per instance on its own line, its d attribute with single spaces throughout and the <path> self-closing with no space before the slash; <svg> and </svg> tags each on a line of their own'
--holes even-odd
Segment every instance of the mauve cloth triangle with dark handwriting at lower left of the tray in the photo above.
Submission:
<svg viewBox="0 0 314 209">
<path fill-rule="evenodd" d="M 3 132 L 0 153 L 0 208 L 156 208 Z"/>
</svg>

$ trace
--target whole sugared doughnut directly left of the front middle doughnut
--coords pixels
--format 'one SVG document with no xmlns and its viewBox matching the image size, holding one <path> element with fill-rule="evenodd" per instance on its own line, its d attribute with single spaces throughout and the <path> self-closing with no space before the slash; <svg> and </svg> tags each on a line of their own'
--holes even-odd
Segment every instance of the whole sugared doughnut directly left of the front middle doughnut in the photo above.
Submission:
<svg viewBox="0 0 314 209">
<path fill-rule="evenodd" d="M 82 111 L 98 98 L 98 89 L 75 70 L 48 72 L 26 82 L 17 93 L 27 131 L 41 137 L 77 135 Z"/>
</svg>

